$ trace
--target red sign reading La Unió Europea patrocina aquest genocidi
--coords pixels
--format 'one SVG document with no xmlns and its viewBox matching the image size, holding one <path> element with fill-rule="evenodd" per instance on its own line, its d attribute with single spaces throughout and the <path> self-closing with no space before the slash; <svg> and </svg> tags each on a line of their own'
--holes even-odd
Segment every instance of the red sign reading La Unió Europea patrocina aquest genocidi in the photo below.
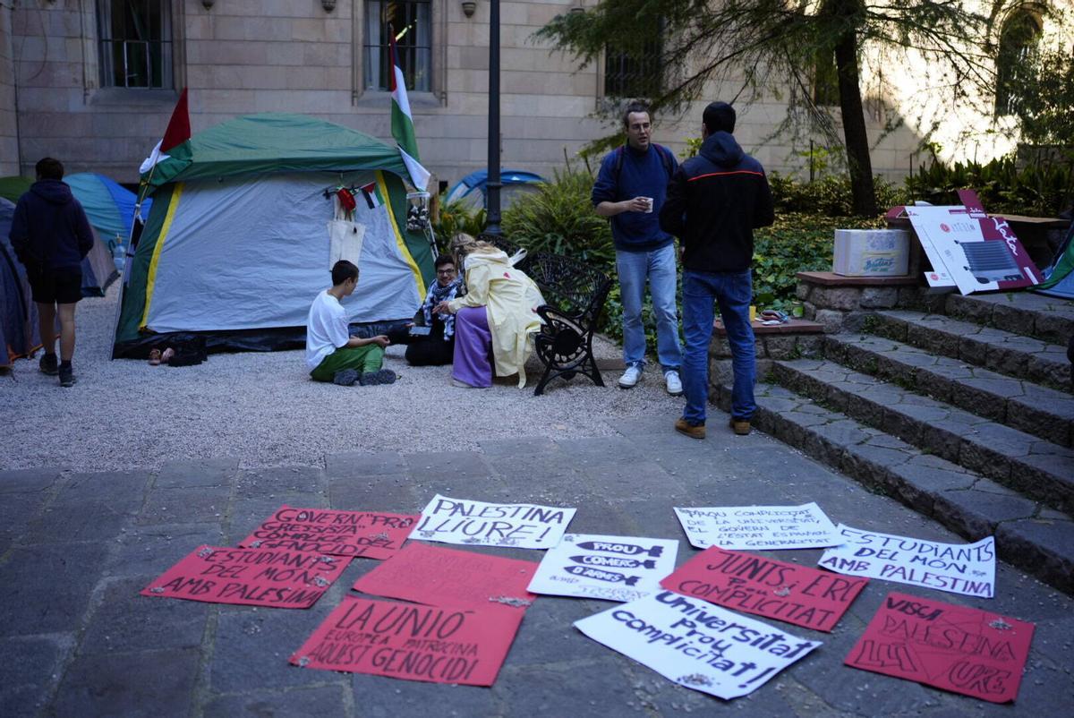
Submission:
<svg viewBox="0 0 1074 718">
<path fill-rule="evenodd" d="M 406 680 L 491 686 L 522 616 L 521 611 L 494 604 L 419 606 L 348 595 L 291 656 L 291 663 Z"/>
</svg>

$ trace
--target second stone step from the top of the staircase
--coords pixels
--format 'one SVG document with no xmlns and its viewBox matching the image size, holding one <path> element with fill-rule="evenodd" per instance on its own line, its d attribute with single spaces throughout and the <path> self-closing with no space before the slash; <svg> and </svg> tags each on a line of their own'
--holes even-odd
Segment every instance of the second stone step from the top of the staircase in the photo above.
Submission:
<svg viewBox="0 0 1074 718">
<path fill-rule="evenodd" d="M 865 321 L 874 334 L 1053 389 L 1070 392 L 1074 388 L 1064 345 L 943 314 L 886 310 L 874 316 Z"/>
</svg>

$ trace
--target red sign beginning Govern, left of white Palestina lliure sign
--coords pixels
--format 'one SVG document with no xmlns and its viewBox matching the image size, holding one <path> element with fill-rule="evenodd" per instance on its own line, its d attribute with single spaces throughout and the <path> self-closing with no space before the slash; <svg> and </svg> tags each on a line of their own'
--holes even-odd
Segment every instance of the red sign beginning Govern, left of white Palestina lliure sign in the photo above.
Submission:
<svg viewBox="0 0 1074 718">
<path fill-rule="evenodd" d="M 419 518 L 420 514 L 295 508 L 285 504 L 238 545 L 387 559 L 403 546 Z"/>
</svg>

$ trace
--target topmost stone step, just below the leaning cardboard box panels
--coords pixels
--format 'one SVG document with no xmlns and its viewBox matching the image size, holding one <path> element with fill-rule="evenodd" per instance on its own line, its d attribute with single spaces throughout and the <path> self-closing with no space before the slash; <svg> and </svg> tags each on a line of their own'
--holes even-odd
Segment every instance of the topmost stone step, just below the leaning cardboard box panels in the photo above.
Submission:
<svg viewBox="0 0 1074 718">
<path fill-rule="evenodd" d="M 948 316 L 1066 346 L 1074 336 L 1074 301 L 1031 291 L 949 295 Z"/>
</svg>

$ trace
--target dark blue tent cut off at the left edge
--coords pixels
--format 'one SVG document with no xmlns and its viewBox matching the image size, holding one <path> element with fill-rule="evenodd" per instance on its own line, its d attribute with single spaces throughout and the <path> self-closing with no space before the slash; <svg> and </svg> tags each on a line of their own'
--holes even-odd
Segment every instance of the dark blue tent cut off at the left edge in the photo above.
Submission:
<svg viewBox="0 0 1074 718">
<path fill-rule="evenodd" d="M 30 298 L 26 268 L 8 239 L 14 214 L 14 203 L 0 197 L 0 369 L 41 346 L 38 306 Z"/>
</svg>

